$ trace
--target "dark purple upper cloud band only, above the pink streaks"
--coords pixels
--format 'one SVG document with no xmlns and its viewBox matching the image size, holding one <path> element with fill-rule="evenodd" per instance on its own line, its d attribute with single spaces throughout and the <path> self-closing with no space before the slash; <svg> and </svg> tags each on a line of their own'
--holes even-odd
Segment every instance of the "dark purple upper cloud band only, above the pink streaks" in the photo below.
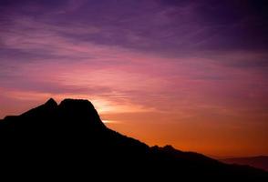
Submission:
<svg viewBox="0 0 268 182">
<path fill-rule="evenodd" d="M 23 9 L 34 5 L 41 13 L 29 26 L 97 45 L 166 56 L 267 49 L 267 3 L 263 1 L 10 2 L 3 3 L 4 9 L 14 8 L 17 13 L 6 12 L 1 22 L 8 17 L 25 25 L 24 16 L 33 13 Z"/>
</svg>

